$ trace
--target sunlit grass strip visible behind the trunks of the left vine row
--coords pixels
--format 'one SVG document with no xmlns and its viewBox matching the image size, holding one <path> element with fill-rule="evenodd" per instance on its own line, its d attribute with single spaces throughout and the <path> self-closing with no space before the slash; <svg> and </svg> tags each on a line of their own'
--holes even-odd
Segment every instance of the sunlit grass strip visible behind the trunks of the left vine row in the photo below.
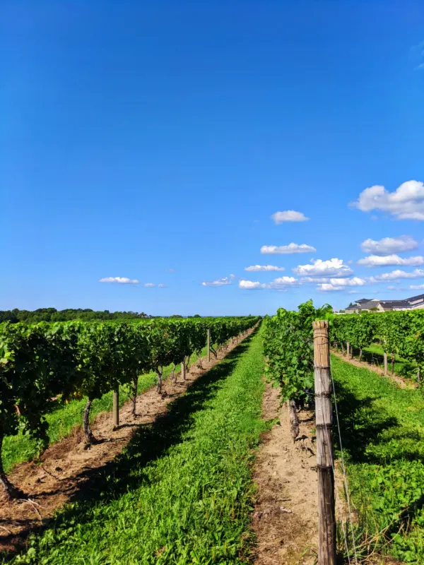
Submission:
<svg viewBox="0 0 424 565">
<path fill-rule="evenodd" d="M 206 347 L 202 350 L 201 355 L 206 355 Z M 196 362 L 196 355 L 192 355 L 190 363 Z M 177 367 L 177 370 L 178 367 Z M 165 367 L 163 370 L 163 379 L 167 379 L 172 371 L 172 365 Z M 139 378 L 139 394 L 148 391 L 149 388 L 157 383 L 157 376 L 151 372 L 141 375 Z M 128 394 L 124 392 L 124 388 L 119 388 L 119 405 L 122 406 L 128 400 Z M 90 409 L 90 421 L 93 422 L 100 412 L 112 411 L 112 391 L 106 393 L 102 398 L 96 398 Z M 83 422 L 83 412 L 86 406 L 87 398 L 81 400 L 73 400 L 67 405 L 58 405 L 56 410 L 46 415 L 49 424 L 49 443 L 54 444 L 66 436 L 71 434 L 74 427 L 81 427 Z M 30 461 L 39 456 L 40 451 L 37 441 L 31 439 L 30 436 L 19 433 L 16 436 L 6 436 L 3 442 L 2 458 L 4 470 L 9 472 L 13 465 Z"/>
</svg>

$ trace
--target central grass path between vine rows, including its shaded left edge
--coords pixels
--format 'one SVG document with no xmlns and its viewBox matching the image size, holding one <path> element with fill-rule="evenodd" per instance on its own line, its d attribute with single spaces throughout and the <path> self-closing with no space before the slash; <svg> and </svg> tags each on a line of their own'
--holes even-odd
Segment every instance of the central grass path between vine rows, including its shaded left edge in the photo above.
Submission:
<svg viewBox="0 0 424 565">
<path fill-rule="evenodd" d="M 26 554 L 37 565 L 242 564 L 250 552 L 261 336 L 235 348 L 90 481 Z"/>
</svg>

